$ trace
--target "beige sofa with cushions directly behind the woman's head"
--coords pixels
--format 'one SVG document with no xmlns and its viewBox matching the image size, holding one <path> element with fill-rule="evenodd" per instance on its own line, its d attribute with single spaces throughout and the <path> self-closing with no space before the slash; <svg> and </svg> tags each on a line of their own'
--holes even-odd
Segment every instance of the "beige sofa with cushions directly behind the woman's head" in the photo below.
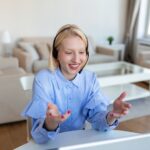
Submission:
<svg viewBox="0 0 150 150">
<path fill-rule="evenodd" d="M 19 66 L 26 72 L 34 72 L 48 67 L 48 57 L 52 49 L 52 37 L 21 38 L 14 48 L 14 56 L 19 60 Z M 89 37 L 89 63 L 104 63 L 117 61 L 118 56 L 108 48 L 98 47 Z"/>
</svg>

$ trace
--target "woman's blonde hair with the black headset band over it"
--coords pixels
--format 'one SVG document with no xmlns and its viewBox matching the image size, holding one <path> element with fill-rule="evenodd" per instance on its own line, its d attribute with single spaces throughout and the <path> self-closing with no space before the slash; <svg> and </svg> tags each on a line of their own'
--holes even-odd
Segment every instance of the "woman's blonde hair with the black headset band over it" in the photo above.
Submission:
<svg viewBox="0 0 150 150">
<path fill-rule="evenodd" d="M 62 41 L 69 36 L 80 37 L 81 40 L 85 43 L 86 53 L 89 56 L 88 39 L 86 35 L 83 33 L 83 31 L 78 26 L 73 25 L 73 24 L 64 25 L 58 30 L 53 41 L 53 47 L 52 47 L 50 58 L 49 58 L 49 69 L 51 71 L 54 71 L 59 66 L 59 62 L 57 60 L 58 47 L 61 45 Z"/>
</svg>

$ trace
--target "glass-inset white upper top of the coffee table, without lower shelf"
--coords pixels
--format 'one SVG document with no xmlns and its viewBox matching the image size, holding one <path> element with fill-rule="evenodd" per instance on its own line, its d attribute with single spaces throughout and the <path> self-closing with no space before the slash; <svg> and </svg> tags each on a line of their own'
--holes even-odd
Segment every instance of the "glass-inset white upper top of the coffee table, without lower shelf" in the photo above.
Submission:
<svg viewBox="0 0 150 150">
<path fill-rule="evenodd" d="M 124 61 L 91 64 L 86 69 L 97 74 L 102 87 L 150 80 L 150 69 Z"/>
</svg>

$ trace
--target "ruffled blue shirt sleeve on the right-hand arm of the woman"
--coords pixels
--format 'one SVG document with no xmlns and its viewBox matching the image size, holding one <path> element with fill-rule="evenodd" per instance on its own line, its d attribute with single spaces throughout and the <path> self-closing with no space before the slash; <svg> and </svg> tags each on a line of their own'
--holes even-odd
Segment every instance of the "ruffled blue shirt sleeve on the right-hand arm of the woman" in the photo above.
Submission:
<svg viewBox="0 0 150 150">
<path fill-rule="evenodd" d="M 118 120 L 116 120 L 111 126 L 107 123 L 109 100 L 100 90 L 96 75 L 93 76 L 92 81 L 93 86 L 83 109 L 83 114 L 95 130 L 112 130 L 118 125 Z"/>
</svg>

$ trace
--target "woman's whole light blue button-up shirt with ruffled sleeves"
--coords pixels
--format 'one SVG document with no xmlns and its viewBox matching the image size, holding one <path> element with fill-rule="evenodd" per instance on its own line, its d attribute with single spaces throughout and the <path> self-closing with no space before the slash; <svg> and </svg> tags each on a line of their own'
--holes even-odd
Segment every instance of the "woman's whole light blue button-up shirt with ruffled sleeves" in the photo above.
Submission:
<svg viewBox="0 0 150 150">
<path fill-rule="evenodd" d="M 32 92 L 32 100 L 23 115 L 32 118 L 31 134 L 37 143 L 47 142 L 59 132 L 83 129 L 86 120 L 99 131 L 113 129 L 118 124 L 116 121 L 108 125 L 109 101 L 102 94 L 95 73 L 90 71 L 83 70 L 70 81 L 59 68 L 54 72 L 42 70 L 35 76 Z M 61 114 L 71 110 L 71 116 L 56 131 L 43 128 L 49 102 L 57 105 Z"/>
</svg>

